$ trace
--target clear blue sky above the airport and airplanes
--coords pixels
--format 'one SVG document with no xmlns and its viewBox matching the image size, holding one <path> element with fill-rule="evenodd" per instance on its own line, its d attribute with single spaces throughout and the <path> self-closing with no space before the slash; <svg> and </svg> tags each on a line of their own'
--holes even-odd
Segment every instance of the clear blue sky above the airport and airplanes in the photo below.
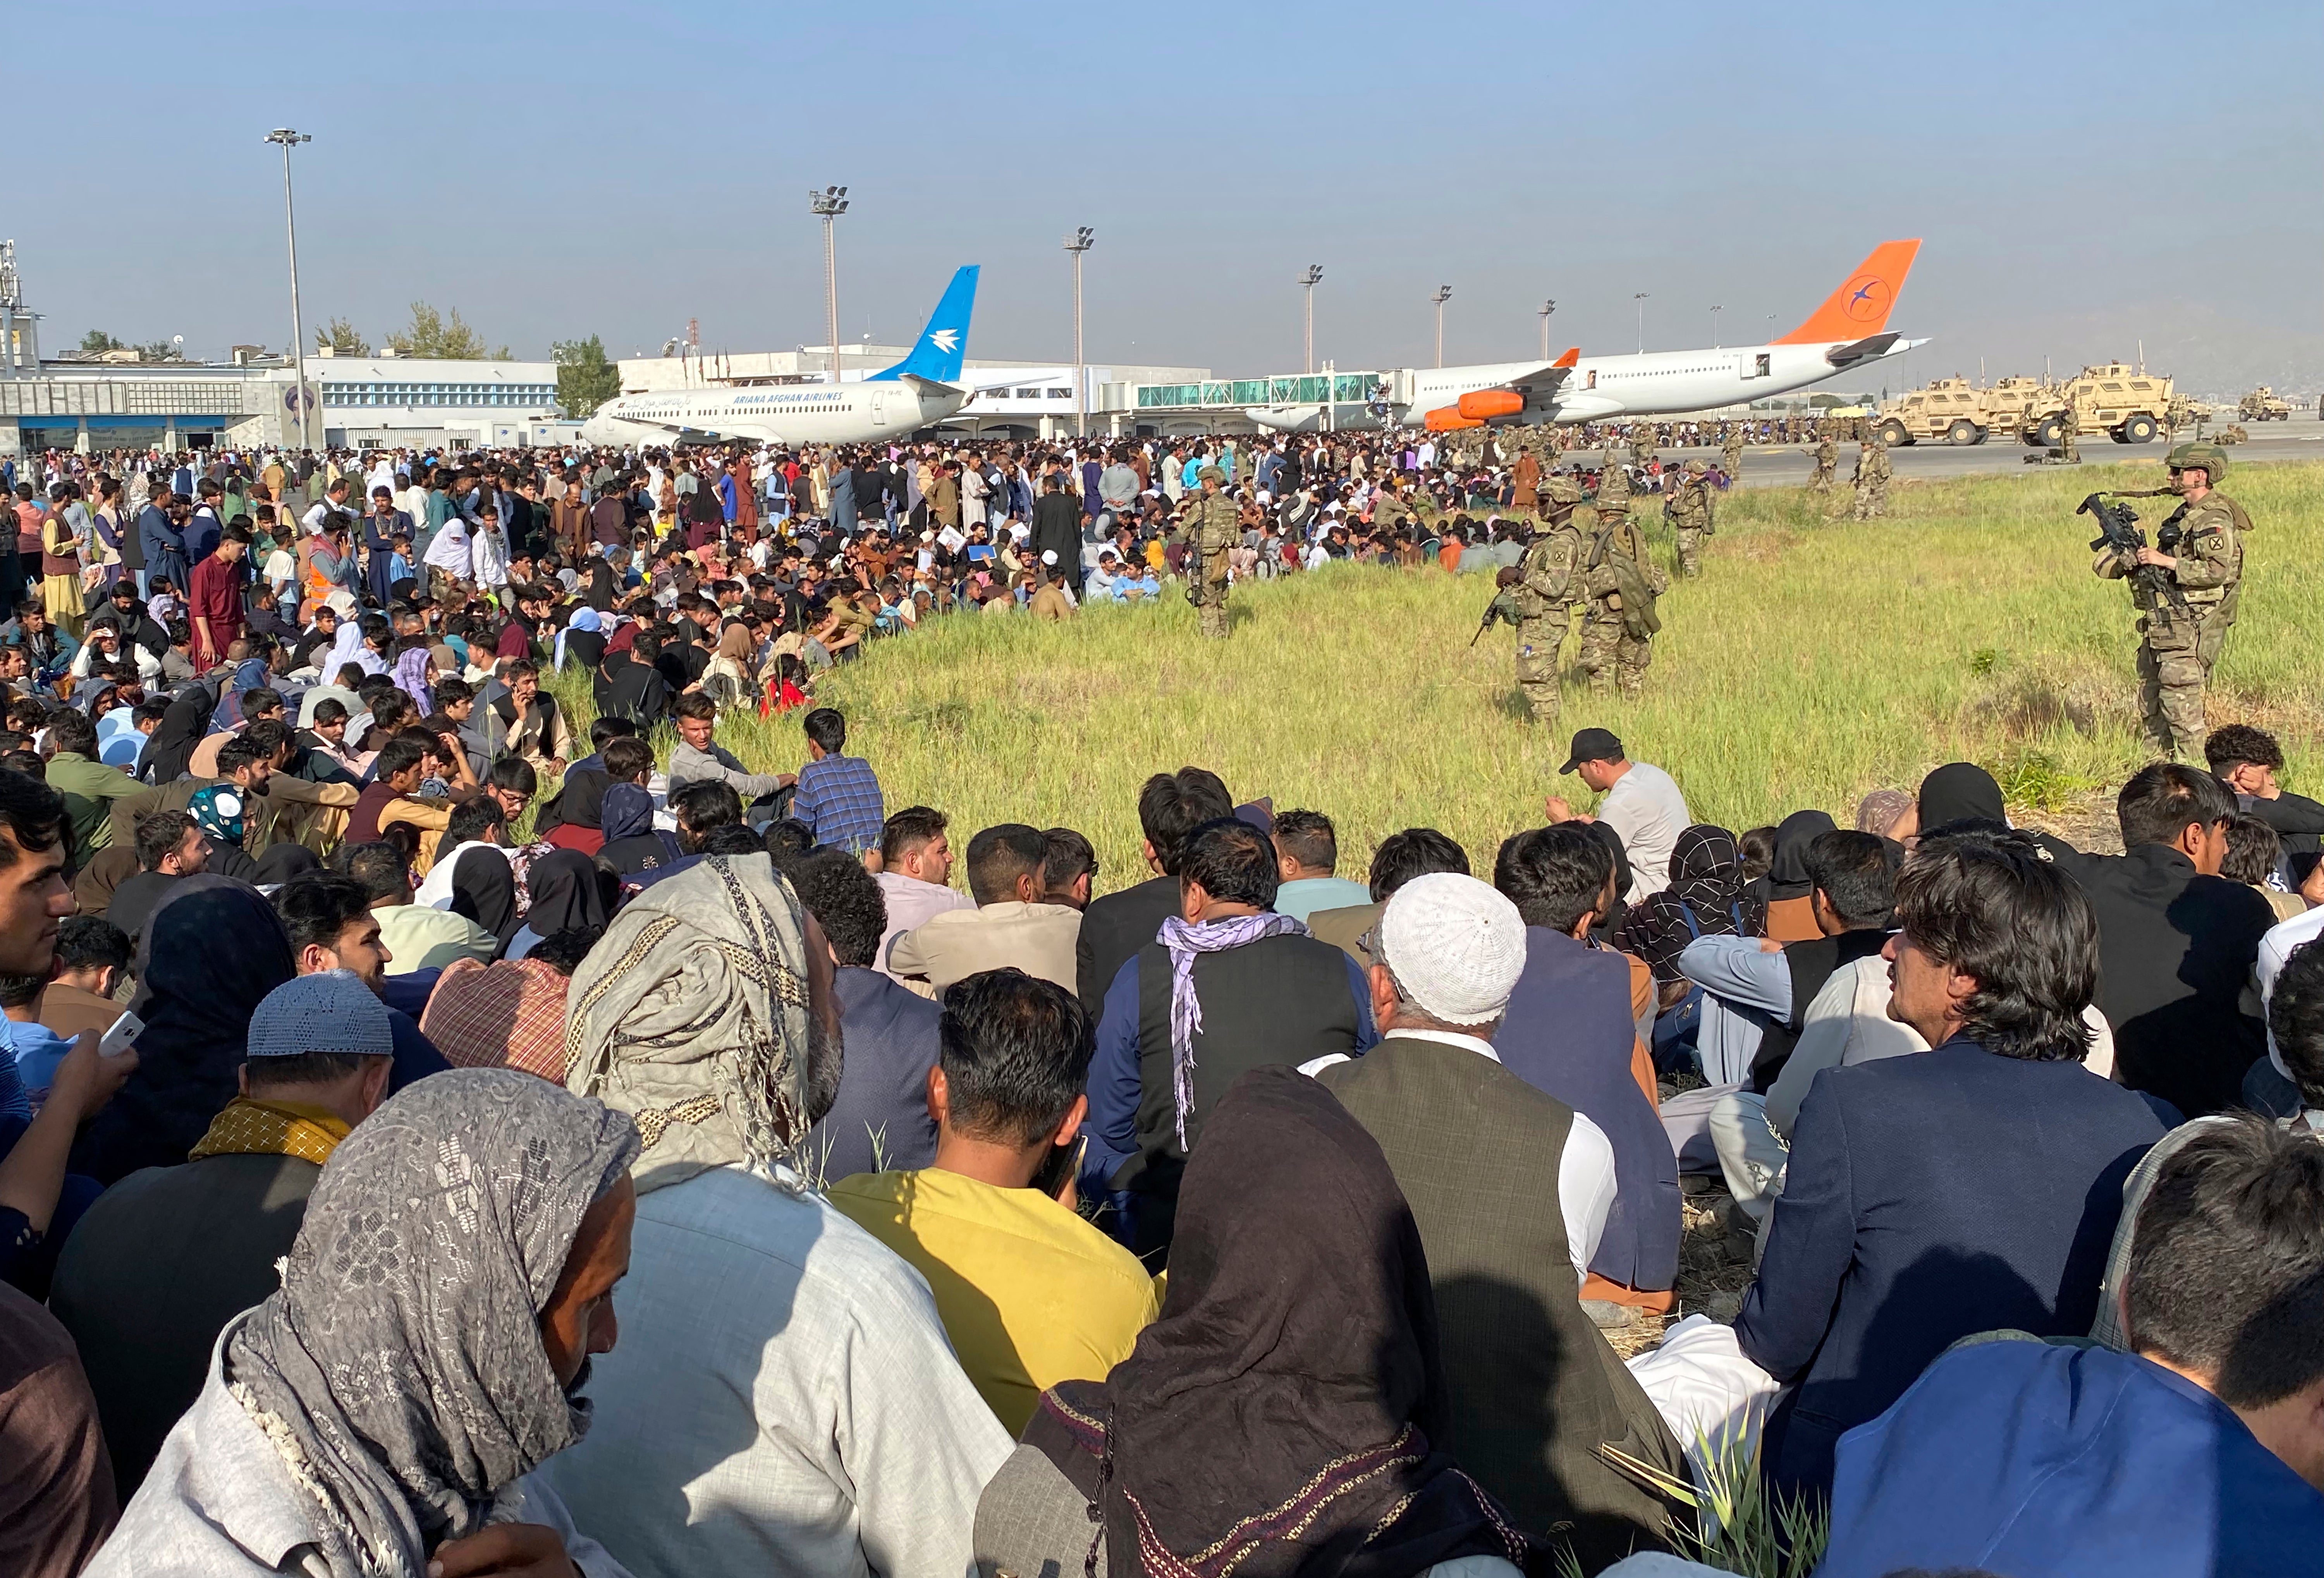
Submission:
<svg viewBox="0 0 2324 1578">
<path fill-rule="evenodd" d="M 1752 12 L 1773 14 L 1762 21 Z M 1652 16 L 1652 21 L 1648 21 Z M 188 19 L 200 19 L 193 26 Z M 806 188 L 844 181 L 841 332 L 913 332 L 983 265 L 971 353 L 1281 372 L 1727 342 L 1882 237 L 1927 246 L 1908 376 L 2133 351 L 2324 381 L 2315 5 L 1557 7 L 51 5 L 7 218 L 53 349 L 284 344 L 411 300 L 544 356 L 702 321 L 823 337 Z M 2115 109 L 2122 105 L 2122 109 Z"/>
</svg>

